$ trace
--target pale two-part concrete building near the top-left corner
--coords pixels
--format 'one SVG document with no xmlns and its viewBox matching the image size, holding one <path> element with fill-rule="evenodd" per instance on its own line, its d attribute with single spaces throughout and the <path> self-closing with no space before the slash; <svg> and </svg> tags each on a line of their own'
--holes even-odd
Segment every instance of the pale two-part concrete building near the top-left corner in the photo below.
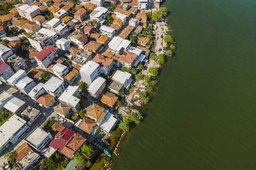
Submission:
<svg viewBox="0 0 256 170">
<path fill-rule="evenodd" d="M 41 15 L 41 11 L 36 5 L 29 6 L 27 4 L 24 4 L 17 7 L 17 11 L 22 18 L 25 18 L 31 22 L 33 22 L 33 18 L 35 16 Z"/>
</svg>

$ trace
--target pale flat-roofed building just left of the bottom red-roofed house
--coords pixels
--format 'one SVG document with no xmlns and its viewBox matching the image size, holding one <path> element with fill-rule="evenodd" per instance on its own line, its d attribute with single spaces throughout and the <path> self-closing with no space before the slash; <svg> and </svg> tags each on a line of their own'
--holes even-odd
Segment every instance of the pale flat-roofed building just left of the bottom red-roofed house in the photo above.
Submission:
<svg viewBox="0 0 256 170">
<path fill-rule="evenodd" d="M 50 141 L 53 140 L 53 136 L 49 132 L 47 133 L 39 127 L 36 127 L 24 140 L 37 151 L 42 152 Z"/>
</svg>

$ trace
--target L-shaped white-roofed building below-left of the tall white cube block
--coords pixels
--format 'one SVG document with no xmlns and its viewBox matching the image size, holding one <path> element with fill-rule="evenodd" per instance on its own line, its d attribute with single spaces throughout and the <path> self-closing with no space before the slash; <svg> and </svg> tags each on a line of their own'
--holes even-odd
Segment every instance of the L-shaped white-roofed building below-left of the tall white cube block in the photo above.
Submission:
<svg viewBox="0 0 256 170">
<path fill-rule="evenodd" d="M 78 111 L 80 109 L 79 87 L 69 86 L 58 98 L 60 103 L 69 106 L 72 110 Z"/>
</svg>

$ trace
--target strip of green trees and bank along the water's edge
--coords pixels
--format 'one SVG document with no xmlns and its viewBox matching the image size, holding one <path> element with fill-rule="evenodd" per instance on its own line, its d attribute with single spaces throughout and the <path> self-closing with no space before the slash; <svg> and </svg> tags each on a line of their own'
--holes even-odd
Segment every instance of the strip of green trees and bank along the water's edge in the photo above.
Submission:
<svg viewBox="0 0 256 170">
<path fill-rule="evenodd" d="M 124 112 L 126 112 L 127 115 L 122 114 L 122 117 L 118 117 L 120 123 L 116 130 L 114 130 L 108 137 L 108 141 L 110 141 L 110 146 L 108 149 L 116 157 L 120 155 L 121 142 L 124 140 L 125 135 L 127 135 L 130 129 L 135 127 L 136 124 L 143 121 L 143 114 L 141 114 L 137 109 L 140 107 L 145 107 L 150 102 L 150 94 L 156 94 L 154 90 L 156 89 L 155 86 L 158 83 L 157 77 L 160 74 L 164 63 L 167 61 L 167 58 L 172 58 L 174 56 L 174 50 L 176 49 L 174 46 L 175 41 L 170 35 L 170 33 L 174 30 L 169 29 L 166 19 L 167 14 L 168 11 L 166 7 L 161 7 L 159 10 L 156 10 L 155 8 L 149 12 L 146 12 L 148 21 L 151 24 L 149 24 L 149 26 L 143 30 L 141 33 L 143 35 L 132 34 L 130 36 L 130 41 L 132 41 L 133 44 L 137 44 L 135 40 L 136 38 L 134 38 L 135 36 L 144 36 L 150 38 L 150 43 L 152 44 L 150 48 L 149 61 L 145 65 L 140 64 L 138 65 L 137 69 L 127 69 L 122 67 L 122 71 L 129 72 L 133 75 L 133 78 L 136 80 L 136 82 L 133 84 L 137 86 L 135 87 L 132 85 L 127 92 L 121 91 L 119 93 L 119 96 L 121 96 L 117 103 L 119 112 L 122 114 L 121 108 L 125 107 L 126 109 Z M 164 35 L 159 34 L 159 39 L 162 40 L 162 43 L 158 45 L 158 32 L 154 32 L 152 30 L 157 30 L 156 26 L 158 26 L 160 22 L 164 22 L 164 24 L 160 24 Z M 161 50 L 159 50 L 158 46 L 162 47 Z M 113 167 L 113 161 L 103 152 L 99 155 L 99 158 L 95 161 L 90 170 L 105 170 L 112 169 Z"/>
</svg>

